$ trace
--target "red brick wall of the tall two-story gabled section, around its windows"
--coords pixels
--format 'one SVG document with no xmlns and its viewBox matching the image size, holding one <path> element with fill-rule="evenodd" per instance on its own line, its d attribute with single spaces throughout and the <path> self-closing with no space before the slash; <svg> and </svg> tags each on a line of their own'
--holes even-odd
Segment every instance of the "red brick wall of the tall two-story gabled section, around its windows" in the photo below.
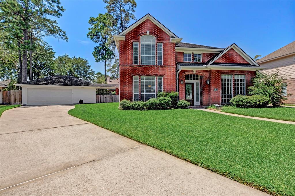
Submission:
<svg viewBox="0 0 295 196">
<path fill-rule="evenodd" d="M 163 43 L 163 65 L 133 65 L 133 42 L 139 43 L 140 54 L 140 36 L 146 35 L 147 30 L 150 31 L 150 35 L 156 37 L 155 54 L 157 54 L 157 43 Z M 170 36 L 149 19 L 145 20 L 125 35 L 125 41 L 120 41 L 119 54 L 120 100 L 133 100 L 133 76 L 162 76 L 163 90 L 166 92 L 176 91 L 175 43 L 171 43 Z"/>
</svg>

